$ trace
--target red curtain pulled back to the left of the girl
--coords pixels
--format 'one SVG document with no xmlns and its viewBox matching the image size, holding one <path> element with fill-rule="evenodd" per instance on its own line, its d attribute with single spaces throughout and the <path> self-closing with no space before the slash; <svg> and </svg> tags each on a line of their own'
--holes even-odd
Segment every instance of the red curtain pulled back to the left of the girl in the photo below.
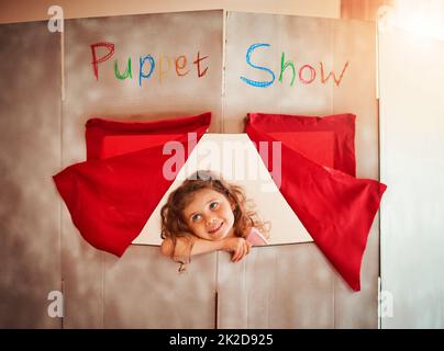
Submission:
<svg viewBox="0 0 444 351">
<path fill-rule="evenodd" d="M 164 167 L 174 155 L 165 152 L 165 140 L 159 143 L 159 138 L 166 135 L 169 141 L 184 146 L 184 159 L 175 165 L 177 174 L 208 129 L 210 120 L 211 114 L 206 113 L 148 123 L 88 122 L 90 160 L 54 176 L 73 223 L 85 240 L 121 257 L 174 180 L 170 174 L 164 174 Z M 149 137 L 144 138 L 144 135 Z M 118 136 L 116 144 L 107 146 L 103 141 L 109 136 Z M 134 143 L 135 139 L 138 143 Z M 116 156 L 109 150 L 118 150 Z M 120 152 L 122 150 L 125 152 Z M 103 158 L 106 155 L 108 157 Z"/>
</svg>

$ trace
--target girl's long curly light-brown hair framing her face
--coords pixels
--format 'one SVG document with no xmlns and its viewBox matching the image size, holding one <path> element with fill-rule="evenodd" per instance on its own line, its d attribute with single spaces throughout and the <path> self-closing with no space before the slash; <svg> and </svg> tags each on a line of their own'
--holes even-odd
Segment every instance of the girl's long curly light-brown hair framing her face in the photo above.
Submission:
<svg viewBox="0 0 444 351">
<path fill-rule="evenodd" d="M 245 238 L 252 227 L 260 230 L 264 236 L 268 236 L 268 223 L 259 218 L 257 212 L 249 205 L 249 201 L 246 199 L 245 192 L 241 186 L 227 183 L 220 174 L 200 170 L 186 179 L 179 188 L 171 192 L 166 204 L 160 210 L 160 237 L 163 239 L 170 239 L 174 248 L 176 248 L 177 238 L 179 237 L 190 240 L 190 245 L 192 246 L 192 239 L 190 238 L 192 233 L 186 225 L 184 210 L 192 201 L 192 195 L 202 189 L 217 191 L 226 196 L 230 203 L 234 204 L 233 228 L 235 236 Z M 175 251 L 173 250 L 171 252 L 171 259 L 185 264 L 184 260 L 175 257 Z M 189 256 L 185 260 L 189 262 Z"/>
</svg>

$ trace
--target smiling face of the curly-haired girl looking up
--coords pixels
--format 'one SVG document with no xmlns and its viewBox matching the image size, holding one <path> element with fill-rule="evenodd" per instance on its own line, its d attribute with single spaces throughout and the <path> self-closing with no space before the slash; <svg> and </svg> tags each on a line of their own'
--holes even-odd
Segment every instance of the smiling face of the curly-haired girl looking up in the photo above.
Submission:
<svg viewBox="0 0 444 351">
<path fill-rule="evenodd" d="M 182 212 L 188 228 L 207 240 L 222 240 L 230 235 L 234 224 L 234 204 L 212 189 L 199 190 L 192 196 Z"/>
</svg>

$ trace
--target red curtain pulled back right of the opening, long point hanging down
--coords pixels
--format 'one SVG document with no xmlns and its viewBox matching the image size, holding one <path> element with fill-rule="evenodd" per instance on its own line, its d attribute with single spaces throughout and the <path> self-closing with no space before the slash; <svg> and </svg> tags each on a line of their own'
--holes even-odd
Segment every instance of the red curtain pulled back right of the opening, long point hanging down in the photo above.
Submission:
<svg viewBox="0 0 444 351">
<path fill-rule="evenodd" d="M 278 118 L 285 126 L 286 117 Z M 281 143 L 280 170 L 274 167 L 271 152 L 262 155 L 265 165 L 271 174 L 280 172 L 277 185 L 280 184 L 281 194 L 337 272 L 353 290 L 359 291 L 362 259 L 386 185 L 375 180 L 357 179 L 309 159 L 298 151 L 296 144 L 289 147 L 287 139 L 279 140 L 279 135 L 274 134 L 276 117 L 274 120 L 267 124 L 253 115 L 247 121 L 246 133 L 258 150 L 259 143 L 265 143 L 268 150 L 273 149 L 274 141 Z M 346 118 L 344 121 L 348 123 Z M 291 127 L 291 122 L 288 128 L 282 127 L 290 139 Z M 297 137 L 295 134 L 293 138 Z"/>
</svg>

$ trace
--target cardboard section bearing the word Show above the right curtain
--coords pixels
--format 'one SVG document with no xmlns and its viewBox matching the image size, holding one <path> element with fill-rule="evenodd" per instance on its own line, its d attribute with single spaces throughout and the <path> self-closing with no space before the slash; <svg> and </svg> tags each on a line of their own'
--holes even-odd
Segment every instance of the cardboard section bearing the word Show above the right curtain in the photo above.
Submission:
<svg viewBox="0 0 444 351">
<path fill-rule="evenodd" d="M 224 128 L 225 133 L 243 131 L 243 117 L 247 112 L 328 114 L 332 110 L 332 79 L 321 82 L 321 63 L 333 69 L 333 20 L 227 12 Z M 264 44 L 251 50 L 252 65 L 246 55 L 252 45 Z M 288 66 L 279 81 L 281 57 L 291 60 L 293 75 Z M 343 63 L 341 63 L 343 64 Z M 315 78 L 311 83 L 299 79 L 304 65 L 311 65 Z M 335 66 L 335 70 L 342 68 Z M 307 71 L 306 71 L 307 70 Z M 311 79 L 309 68 L 302 70 L 306 80 Z M 307 77 L 306 77 L 307 73 Z M 253 87 L 242 78 L 269 83 Z"/>
</svg>

